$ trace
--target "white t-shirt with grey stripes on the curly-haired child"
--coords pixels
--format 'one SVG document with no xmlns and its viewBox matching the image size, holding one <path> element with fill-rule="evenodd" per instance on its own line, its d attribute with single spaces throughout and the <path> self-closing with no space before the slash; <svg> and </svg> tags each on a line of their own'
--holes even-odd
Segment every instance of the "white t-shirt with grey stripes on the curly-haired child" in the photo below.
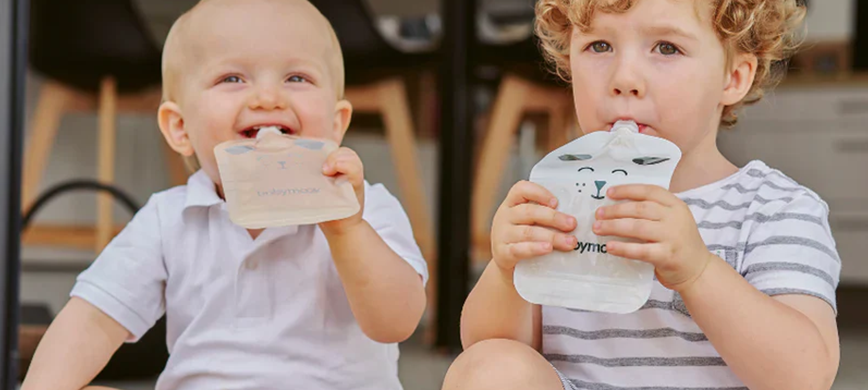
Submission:
<svg viewBox="0 0 868 390">
<path fill-rule="evenodd" d="M 810 189 L 753 161 L 678 196 L 708 250 L 753 287 L 816 296 L 835 308 L 841 261 L 828 207 Z M 681 296 L 656 281 L 648 303 L 631 314 L 542 307 L 542 354 L 580 389 L 746 389 Z"/>
</svg>

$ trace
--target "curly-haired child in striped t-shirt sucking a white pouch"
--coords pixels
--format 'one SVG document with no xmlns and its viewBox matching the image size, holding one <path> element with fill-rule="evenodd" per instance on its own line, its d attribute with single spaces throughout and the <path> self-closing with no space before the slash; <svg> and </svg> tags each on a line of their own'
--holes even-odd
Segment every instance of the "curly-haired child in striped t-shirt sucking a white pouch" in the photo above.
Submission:
<svg viewBox="0 0 868 390">
<path fill-rule="evenodd" d="M 632 120 L 682 152 L 670 189 L 605 188 L 595 235 L 654 265 L 631 314 L 539 307 L 516 262 L 575 248 L 573 216 L 519 182 L 492 222 L 493 260 L 464 304 L 444 389 L 828 389 L 838 370 L 841 261 L 817 194 L 716 136 L 786 68 L 795 0 L 540 0 L 536 32 L 572 82 L 584 133 Z M 774 145 L 767 145 L 773 148 Z"/>
</svg>

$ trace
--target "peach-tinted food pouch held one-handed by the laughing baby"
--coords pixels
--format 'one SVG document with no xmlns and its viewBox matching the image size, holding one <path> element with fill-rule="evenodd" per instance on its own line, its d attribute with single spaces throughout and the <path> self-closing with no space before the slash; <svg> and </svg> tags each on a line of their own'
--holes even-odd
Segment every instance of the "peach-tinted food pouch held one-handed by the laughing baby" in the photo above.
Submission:
<svg viewBox="0 0 868 390">
<path fill-rule="evenodd" d="M 335 142 L 259 130 L 256 139 L 214 148 L 229 219 L 244 228 L 344 219 L 360 208 L 352 184 L 323 175 Z"/>
</svg>

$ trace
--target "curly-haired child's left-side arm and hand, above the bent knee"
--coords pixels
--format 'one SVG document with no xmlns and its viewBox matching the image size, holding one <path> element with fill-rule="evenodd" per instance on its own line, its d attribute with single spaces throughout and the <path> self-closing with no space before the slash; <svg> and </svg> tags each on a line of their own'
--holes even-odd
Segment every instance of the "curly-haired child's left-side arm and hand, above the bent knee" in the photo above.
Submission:
<svg viewBox="0 0 868 390">
<path fill-rule="evenodd" d="M 490 261 L 464 303 L 461 341 L 465 348 L 477 341 L 510 339 L 539 349 L 542 344 L 541 308 L 516 292 L 512 274 L 523 259 L 575 247 L 575 219 L 556 212 L 556 198 L 531 182 L 510 189 L 491 223 Z"/>
</svg>

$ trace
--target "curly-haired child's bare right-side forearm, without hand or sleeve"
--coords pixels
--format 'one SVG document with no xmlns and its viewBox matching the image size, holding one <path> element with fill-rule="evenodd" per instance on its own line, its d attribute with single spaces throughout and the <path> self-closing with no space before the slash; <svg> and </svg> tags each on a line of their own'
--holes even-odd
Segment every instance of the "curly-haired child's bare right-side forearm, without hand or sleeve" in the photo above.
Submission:
<svg viewBox="0 0 868 390">
<path fill-rule="evenodd" d="M 748 388 L 832 387 L 838 372 L 838 330 L 825 301 L 808 295 L 770 297 L 720 259 L 710 262 L 681 297 Z"/>
</svg>

